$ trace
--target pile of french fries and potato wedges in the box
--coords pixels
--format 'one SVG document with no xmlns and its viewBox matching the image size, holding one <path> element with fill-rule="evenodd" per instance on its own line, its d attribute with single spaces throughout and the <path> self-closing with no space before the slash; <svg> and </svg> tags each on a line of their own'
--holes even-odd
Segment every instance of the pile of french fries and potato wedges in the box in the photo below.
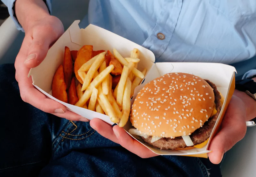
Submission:
<svg viewBox="0 0 256 177">
<path fill-rule="evenodd" d="M 109 50 L 94 51 L 92 45 L 84 45 L 78 51 L 65 47 L 63 64 L 52 80 L 52 96 L 106 114 L 123 127 L 129 119 L 134 89 L 146 69 L 137 69 L 140 52 L 136 48 L 127 58 L 116 49 L 113 54 Z"/>
</svg>

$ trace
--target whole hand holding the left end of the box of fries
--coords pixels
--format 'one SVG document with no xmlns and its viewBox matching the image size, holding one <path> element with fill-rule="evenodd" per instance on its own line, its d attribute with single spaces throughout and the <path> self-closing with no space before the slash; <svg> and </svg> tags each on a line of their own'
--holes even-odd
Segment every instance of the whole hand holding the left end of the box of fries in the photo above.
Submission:
<svg viewBox="0 0 256 177">
<path fill-rule="evenodd" d="M 87 121 L 68 111 L 64 105 L 47 98 L 32 85 L 32 79 L 28 77 L 30 68 L 38 66 L 44 60 L 48 49 L 63 34 L 60 19 L 49 15 L 30 21 L 24 29 L 25 38 L 15 60 L 15 78 L 19 83 L 21 99 L 44 112 L 72 121 Z"/>
</svg>

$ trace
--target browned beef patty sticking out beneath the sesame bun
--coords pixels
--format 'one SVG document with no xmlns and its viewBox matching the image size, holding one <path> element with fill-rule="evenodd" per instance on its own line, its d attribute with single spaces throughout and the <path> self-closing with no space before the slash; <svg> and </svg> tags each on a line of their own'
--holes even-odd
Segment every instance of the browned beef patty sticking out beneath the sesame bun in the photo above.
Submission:
<svg viewBox="0 0 256 177">
<path fill-rule="evenodd" d="M 190 138 L 191 138 L 192 142 L 194 143 L 194 145 L 201 144 L 210 137 L 210 135 L 212 133 L 212 129 L 215 125 L 215 122 L 217 121 L 217 118 L 218 118 L 218 116 L 220 114 L 220 110 L 221 110 L 220 92 L 217 90 L 217 87 L 215 84 L 213 84 L 209 80 L 205 80 L 205 81 L 213 88 L 214 97 L 215 97 L 214 102 L 216 105 L 217 113 L 215 115 L 213 115 L 212 117 L 210 117 L 208 119 L 208 121 L 204 123 L 203 127 L 200 127 L 199 129 L 197 129 L 190 135 Z M 161 150 L 168 150 L 168 149 L 174 150 L 176 148 L 188 147 L 185 144 L 185 142 L 181 136 L 175 137 L 174 139 L 161 138 L 161 139 L 155 141 L 154 143 L 151 143 L 152 136 L 149 136 L 148 138 L 142 137 L 142 139 L 146 143 L 151 144 L 157 148 L 160 148 Z"/>
</svg>

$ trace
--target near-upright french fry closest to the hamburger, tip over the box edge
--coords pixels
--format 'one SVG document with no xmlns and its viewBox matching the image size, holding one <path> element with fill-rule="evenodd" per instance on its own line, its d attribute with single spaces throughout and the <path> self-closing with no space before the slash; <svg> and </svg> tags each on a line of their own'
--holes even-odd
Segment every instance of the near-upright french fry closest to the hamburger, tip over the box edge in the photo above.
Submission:
<svg viewBox="0 0 256 177">
<path fill-rule="evenodd" d="M 123 97 L 123 109 L 122 109 L 122 117 L 118 124 L 119 127 L 124 127 L 129 119 L 130 109 L 131 109 L 131 87 L 132 82 L 129 78 L 127 78 L 125 87 L 124 87 L 124 97 Z"/>
</svg>

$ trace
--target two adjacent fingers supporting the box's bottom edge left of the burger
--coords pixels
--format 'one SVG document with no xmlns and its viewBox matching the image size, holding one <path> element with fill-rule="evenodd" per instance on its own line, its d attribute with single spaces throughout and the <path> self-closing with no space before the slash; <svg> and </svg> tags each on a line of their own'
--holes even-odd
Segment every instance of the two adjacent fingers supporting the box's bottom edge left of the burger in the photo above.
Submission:
<svg viewBox="0 0 256 177">
<path fill-rule="evenodd" d="M 108 123 L 100 119 L 92 119 L 90 125 L 95 129 L 101 136 L 110 139 L 111 141 L 120 144 L 128 151 L 138 155 L 141 158 L 150 158 L 158 156 L 148 148 L 140 144 L 137 140 L 133 139 L 127 134 L 123 128 L 118 125 L 112 127 Z"/>
</svg>

